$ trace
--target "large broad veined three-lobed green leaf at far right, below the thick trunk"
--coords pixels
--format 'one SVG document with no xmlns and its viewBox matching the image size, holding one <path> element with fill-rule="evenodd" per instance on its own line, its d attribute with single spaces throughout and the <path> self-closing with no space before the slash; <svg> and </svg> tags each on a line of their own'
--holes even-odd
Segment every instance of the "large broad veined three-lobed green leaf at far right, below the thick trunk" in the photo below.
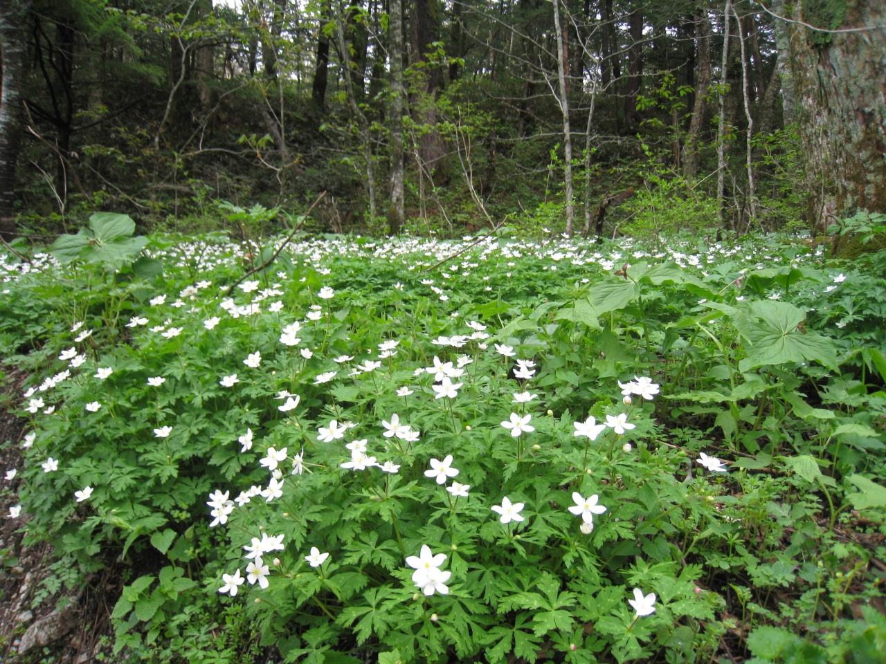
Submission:
<svg viewBox="0 0 886 664">
<path fill-rule="evenodd" d="M 750 331 L 753 346 L 748 352 L 751 367 L 784 362 L 816 361 L 836 371 L 836 348 L 833 340 L 815 332 L 801 332 L 797 326 L 806 315 L 786 302 L 755 302 L 751 311 L 762 320 Z"/>
</svg>

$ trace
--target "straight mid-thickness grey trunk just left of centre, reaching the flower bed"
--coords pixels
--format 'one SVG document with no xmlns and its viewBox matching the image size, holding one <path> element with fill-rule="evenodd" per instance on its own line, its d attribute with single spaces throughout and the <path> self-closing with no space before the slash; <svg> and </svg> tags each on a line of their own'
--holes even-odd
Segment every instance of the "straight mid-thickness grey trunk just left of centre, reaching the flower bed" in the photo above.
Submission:
<svg viewBox="0 0 886 664">
<path fill-rule="evenodd" d="M 390 0 L 388 21 L 388 57 L 391 67 L 391 205 L 388 224 L 395 234 L 405 221 L 404 199 L 404 148 L 403 148 L 403 4 L 402 0 Z M 419 164 L 419 167 L 421 165 Z"/>
</svg>

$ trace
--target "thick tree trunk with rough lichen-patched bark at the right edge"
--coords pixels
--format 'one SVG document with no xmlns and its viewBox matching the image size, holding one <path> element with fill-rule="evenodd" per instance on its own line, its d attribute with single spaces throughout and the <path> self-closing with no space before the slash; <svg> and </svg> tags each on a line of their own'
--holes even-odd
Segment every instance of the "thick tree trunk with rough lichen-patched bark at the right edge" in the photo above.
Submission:
<svg viewBox="0 0 886 664">
<path fill-rule="evenodd" d="M 812 228 L 859 209 L 886 212 L 886 4 L 847 0 L 843 17 L 810 17 L 786 0 L 784 12 L 825 29 L 871 27 L 824 34 L 784 26 Z"/>
</svg>

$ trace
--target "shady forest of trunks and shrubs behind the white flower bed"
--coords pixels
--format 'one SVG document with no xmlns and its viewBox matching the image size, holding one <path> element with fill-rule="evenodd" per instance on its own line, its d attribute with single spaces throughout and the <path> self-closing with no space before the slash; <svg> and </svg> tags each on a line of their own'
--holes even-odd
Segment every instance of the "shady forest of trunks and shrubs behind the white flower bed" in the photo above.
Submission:
<svg viewBox="0 0 886 664">
<path fill-rule="evenodd" d="M 0 230 L 820 234 L 886 210 L 883 13 L 2 0 Z"/>
</svg>

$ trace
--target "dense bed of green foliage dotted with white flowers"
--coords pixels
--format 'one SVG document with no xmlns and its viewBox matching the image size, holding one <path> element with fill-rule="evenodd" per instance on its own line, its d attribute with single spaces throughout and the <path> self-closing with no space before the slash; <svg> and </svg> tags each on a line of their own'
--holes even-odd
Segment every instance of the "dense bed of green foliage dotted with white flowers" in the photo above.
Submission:
<svg viewBox="0 0 886 664">
<path fill-rule="evenodd" d="M 6 518 L 120 657 L 886 658 L 882 253 L 133 230 L 0 254 Z"/>
</svg>

